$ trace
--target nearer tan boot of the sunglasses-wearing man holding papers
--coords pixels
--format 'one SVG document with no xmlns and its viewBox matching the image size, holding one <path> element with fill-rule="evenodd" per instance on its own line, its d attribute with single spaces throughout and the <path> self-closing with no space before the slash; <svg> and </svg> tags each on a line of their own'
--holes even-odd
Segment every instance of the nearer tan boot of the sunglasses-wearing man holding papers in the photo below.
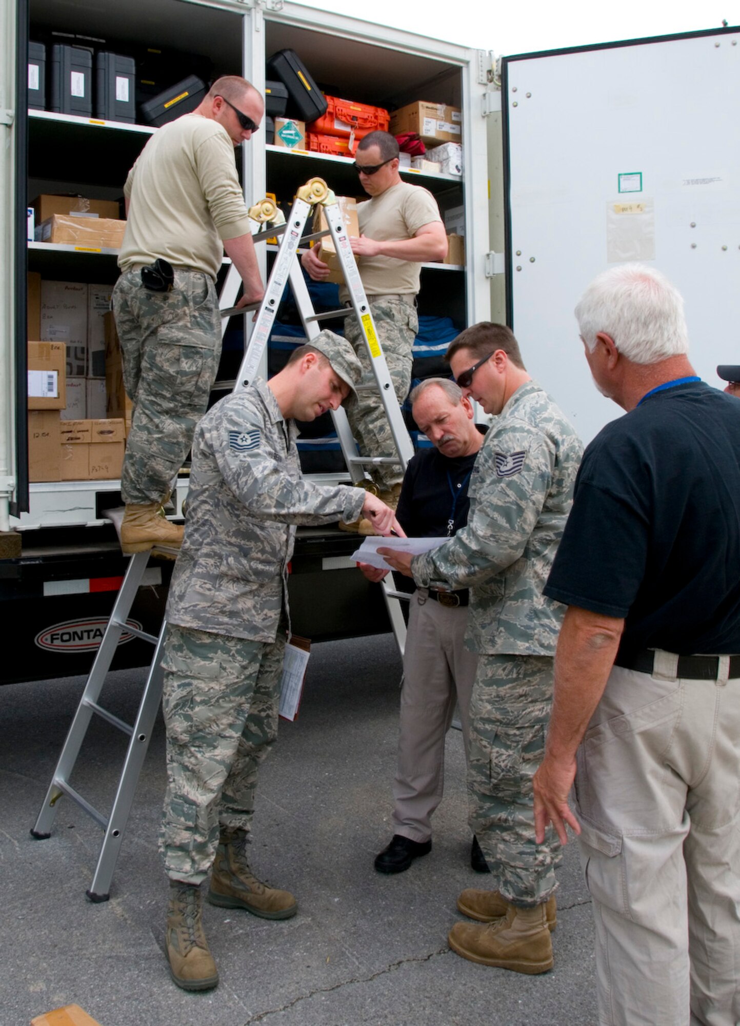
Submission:
<svg viewBox="0 0 740 1026">
<path fill-rule="evenodd" d="M 503 918 L 488 925 L 456 922 L 447 938 L 453 951 L 469 961 L 534 976 L 552 969 L 552 942 L 545 906 L 506 907 Z"/>
</svg>

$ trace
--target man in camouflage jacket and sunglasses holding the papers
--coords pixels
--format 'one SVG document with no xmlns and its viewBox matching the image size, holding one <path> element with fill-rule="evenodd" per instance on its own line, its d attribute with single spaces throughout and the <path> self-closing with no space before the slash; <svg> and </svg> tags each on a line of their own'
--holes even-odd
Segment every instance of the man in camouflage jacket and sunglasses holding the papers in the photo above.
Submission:
<svg viewBox="0 0 740 1026">
<path fill-rule="evenodd" d="M 485 965 L 544 973 L 552 968 L 561 856 L 551 829 L 535 841 L 532 778 L 544 756 L 565 607 L 542 588 L 582 446 L 527 373 L 507 327 L 467 328 L 447 359 L 462 394 L 493 416 L 468 486 L 467 525 L 420 556 L 384 554 L 419 588 L 470 590 L 466 638 L 479 654 L 469 707 L 470 827 L 494 890 L 462 892 L 457 907 L 478 923 L 456 923 L 450 947 Z"/>
</svg>

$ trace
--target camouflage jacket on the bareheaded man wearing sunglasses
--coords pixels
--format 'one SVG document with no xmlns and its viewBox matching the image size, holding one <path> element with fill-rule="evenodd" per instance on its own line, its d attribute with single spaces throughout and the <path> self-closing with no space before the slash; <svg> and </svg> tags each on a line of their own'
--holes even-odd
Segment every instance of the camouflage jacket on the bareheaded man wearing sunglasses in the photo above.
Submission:
<svg viewBox="0 0 740 1026">
<path fill-rule="evenodd" d="M 486 655 L 552 656 L 565 606 L 542 594 L 583 447 L 535 382 L 491 426 L 472 469 L 467 526 L 411 563 L 419 587 L 470 588 L 467 644 Z"/>
</svg>

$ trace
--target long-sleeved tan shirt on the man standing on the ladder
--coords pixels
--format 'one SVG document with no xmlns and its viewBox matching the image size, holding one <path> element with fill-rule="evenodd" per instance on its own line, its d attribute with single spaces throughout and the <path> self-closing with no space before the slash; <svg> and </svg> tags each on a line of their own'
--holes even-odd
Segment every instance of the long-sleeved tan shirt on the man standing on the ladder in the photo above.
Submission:
<svg viewBox="0 0 740 1026">
<path fill-rule="evenodd" d="M 123 191 L 130 200 L 118 258 L 123 271 L 163 256 L 215 278 L 222 240 L 250 231 L 229 133 L 200 114 L 158 128 Z"/>
</svg>

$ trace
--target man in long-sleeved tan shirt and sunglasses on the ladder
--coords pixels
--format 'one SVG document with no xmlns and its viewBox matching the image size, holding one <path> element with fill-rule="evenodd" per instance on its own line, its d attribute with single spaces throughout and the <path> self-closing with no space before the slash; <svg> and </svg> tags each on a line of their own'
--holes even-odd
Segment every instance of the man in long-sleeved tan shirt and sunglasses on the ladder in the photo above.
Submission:
<svg viewBox="0 0 740 1026">
<path fill-rule="evenodd" d="M 257 130 L 263 110 L 246 79 L 219 78 L 192 114 L 155 132 L 126 180 L 113 309 L 133 402 L 121 479 L 127 553 L 182 541 L 182 527 L 159 511 L 218 369 L 214 286 L 224 250 L 244 282 L 239 305 L 264 294 L 234 154 Z M 164 278 L 154 273 L 162 268 Z"/>
</svg>

